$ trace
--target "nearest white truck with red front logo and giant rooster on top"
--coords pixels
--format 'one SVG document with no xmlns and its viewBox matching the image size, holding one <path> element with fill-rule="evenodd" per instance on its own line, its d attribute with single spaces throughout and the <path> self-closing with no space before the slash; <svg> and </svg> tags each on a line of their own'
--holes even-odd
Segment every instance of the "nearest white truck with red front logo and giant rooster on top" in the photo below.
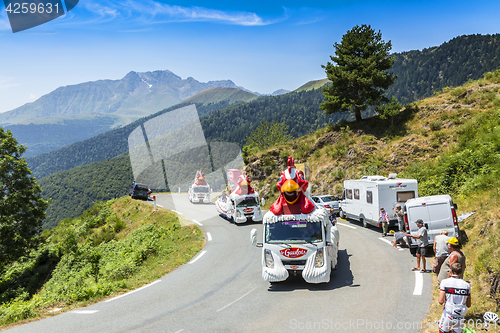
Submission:
<svg viewBox="0 0 500 333">
<path fill-rule="evenodd" d="M 287 164 L 277 183 L 280 195 L 264 215 L 263 242 L 257 243 L 257 229 L 250 233 L 252 244 L 262 247 L 262 278 L 275 283 L 300 274 L 308 283 L 328 283 L 337 266 L 337 226 L 308 197 L 308 182 L 291 157 Z"/>
</svg>

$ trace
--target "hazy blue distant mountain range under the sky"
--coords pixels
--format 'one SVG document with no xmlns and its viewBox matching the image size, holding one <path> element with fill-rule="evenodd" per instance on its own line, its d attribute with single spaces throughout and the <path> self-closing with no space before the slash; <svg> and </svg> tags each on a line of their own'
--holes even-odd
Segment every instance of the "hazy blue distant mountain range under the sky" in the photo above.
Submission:
<svg viewBox="0 0 500 333">
<path fill-rule="evenodd" d="M 27 146 L 25 156 L 49 152 L 82 141 L 178 104 L 193 101 L 249 101 L 257 94 L 231 80 L 199 82 L 174 73 L 130 72 L 120 80 L 99 80 L 59 87 L 33 103 L 0 114 L 0 126 Z M 218 95 L 215 97 L 215 95 Z"/>
</svg>

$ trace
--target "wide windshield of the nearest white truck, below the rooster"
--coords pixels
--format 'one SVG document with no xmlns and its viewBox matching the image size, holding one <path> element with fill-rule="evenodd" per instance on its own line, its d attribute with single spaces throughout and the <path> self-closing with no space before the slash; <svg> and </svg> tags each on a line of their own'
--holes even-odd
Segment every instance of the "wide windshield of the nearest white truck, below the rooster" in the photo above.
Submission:
<svg viewBox="0 0 500 333">
<path fill-rule="evenodd" d="M 266 243 L 321 242 L 321 223 L 283 221 L 266 224 Z"/>
</svg>

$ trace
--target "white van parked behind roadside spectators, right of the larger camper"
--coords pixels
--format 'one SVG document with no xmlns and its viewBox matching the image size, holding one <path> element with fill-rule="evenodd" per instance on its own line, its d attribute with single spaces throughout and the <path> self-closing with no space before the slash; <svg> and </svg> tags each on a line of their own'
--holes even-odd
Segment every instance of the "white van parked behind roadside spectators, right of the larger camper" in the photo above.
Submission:
<svg viewBox="0 0 500 333">
<path fill-rule="evenodd" d="M 418 219 L 424 221 L 429 238 L 429 246 L 434 244 L 434 237 L 441 233 L 441 230 L 448 230 L 449 237 L 459 238 L 457 205 L 448 194 L 432 195 L 409 199 L 404 206 L 405 229 L 407 233 L 417 234 L 418 227 L 415 222 Z M 410 252 L 417 250 L 417 240 L 412 239 Z"/>
</svg>

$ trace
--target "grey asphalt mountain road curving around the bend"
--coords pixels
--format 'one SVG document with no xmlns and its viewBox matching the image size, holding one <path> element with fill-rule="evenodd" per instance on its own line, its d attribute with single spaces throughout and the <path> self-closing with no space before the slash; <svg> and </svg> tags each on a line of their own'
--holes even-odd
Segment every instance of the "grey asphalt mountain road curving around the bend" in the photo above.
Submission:
<svg viewBox="0 0 500 333">
<path fill-rule="evenodd" d="M 205 231 L 206 246 L 189 263 L 127 294 L 7 332 L 400 333 L 429 325 L 422 320 L 431 276 L 412 272 L 415 257 L 394 249 L 378 229 L 339 219 L 339 263 L 330 283 L 291 278 L 270 285 L 261 278 L 262 249 L 250 244 L 250 230 L 261 231 L 261 224 L 231 224 L 214 205 L 191 204 L 187 194 L 159 195 L 157 204 Z"/>
</svg>

